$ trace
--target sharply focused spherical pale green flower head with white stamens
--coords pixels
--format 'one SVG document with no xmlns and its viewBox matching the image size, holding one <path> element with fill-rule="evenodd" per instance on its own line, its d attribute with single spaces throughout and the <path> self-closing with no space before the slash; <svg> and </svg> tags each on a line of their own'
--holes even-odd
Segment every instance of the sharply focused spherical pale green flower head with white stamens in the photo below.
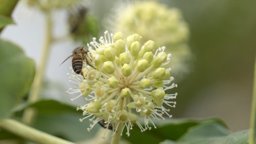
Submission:
<svg viewBox="0 0 256 144">
<path fill-rule="evenodd" d="M 68 74 L 77 86 L 67 93 L 77 93 L 76 98 L 88 100 L 88 104 L 77 108 L 84 111 L 80 121 L 90 118 L 93 122 L 88 131 L 103 120 L 106 128 L 113 127 L 113 135 L 121 127 L 121 132 L 127 129 L 129 136 L 134 124 L 143 132 L 151 129 L 149 122 L 156 128 L 153 120 L 164 119 L 163 114 L 172 116 L 168 112 L 175 106 L 172 100 L 177 94 L 166 91 L 177 85 L 172 83 L 170 68 L 164 68 L 170 63 L 170 55 L 164 46 L 155 46 L 152 40 L 141 42 L 138 34 L 125 38 L 122 32 L 107 31 L 87 45 L 94 59 L 90 65 L 84 63 L 84 75 Z M 145 120 L 144 127 L 139 117 Z"/>
</svg>

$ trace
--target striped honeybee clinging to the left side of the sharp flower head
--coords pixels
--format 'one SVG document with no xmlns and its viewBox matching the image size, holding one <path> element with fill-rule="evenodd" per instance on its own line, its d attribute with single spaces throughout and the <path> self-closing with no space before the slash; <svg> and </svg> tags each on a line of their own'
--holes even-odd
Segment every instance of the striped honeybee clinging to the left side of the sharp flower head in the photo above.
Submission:
<svg viewBox="0 0 256 144">
<path fill-rule="evenodd" d="M 80 74 L 84 77 L 84 73 L 82 71 L 84 61 L 86 61 L 87 65 L 90 65 L 90 67 L 93 67 L 95 69 L 95 67 L 91 65 L 93 60 L 92 55 L 90 54 L 90 51 L 86 47 L 78 46 L 73 50 L 73 54 L 67 57 L 67 59 L 71 57 L 72 57 L 72 68 L 73 68 L 73 71 L 75 71 L 75 73 Z M 67 61 L 67 59 L 65 59 L 65 61 Z M 63 61 L 61 65 L 65 61 Z"/>
</svg>

